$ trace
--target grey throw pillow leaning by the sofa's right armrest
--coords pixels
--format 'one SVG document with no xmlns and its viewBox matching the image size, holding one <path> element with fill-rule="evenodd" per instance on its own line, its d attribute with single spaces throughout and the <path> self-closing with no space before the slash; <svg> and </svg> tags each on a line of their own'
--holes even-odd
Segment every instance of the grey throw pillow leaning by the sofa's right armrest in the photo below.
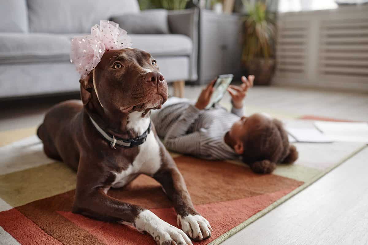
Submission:
<svg viewBox="0 0 368 245">
<path fill-rule="evenodd" d="M 112 21 L 118 23 L 128 33 L 135 34 L 169 34 L 167 10 L 151 9 L 139 14 L 123 14 L 113 16 Z"/>
</svg>

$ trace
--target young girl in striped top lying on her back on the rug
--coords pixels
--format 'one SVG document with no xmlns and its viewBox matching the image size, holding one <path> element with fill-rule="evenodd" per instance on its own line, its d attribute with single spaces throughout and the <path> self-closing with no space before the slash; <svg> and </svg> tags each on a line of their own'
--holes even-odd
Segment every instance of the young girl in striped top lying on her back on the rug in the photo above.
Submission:
<svg viewBox="0 0 368 245">
<path fill-rule="evenodd" d="M 282 123 L 262 114 L 243 116 L 243 99 L 254 76 L 241 78 L 241 86 L 230 85 L 233 108 L 229 113 L 216 104 L 204 110 L 213 84 L 202 90 L 197 103 L 171 97 L 152 113 L 157 134 L 167 149 L 208 160 L 241 159 L 255 173 L 271 173 L 276 163 L 293 163 L 298 152 L 289 145 Z"/>
</svg>

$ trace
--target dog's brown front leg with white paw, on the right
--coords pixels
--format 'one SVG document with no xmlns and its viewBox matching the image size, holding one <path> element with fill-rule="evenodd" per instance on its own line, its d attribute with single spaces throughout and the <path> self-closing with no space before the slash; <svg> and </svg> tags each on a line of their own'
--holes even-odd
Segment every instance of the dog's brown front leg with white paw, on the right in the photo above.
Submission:
<svg viewBox="0 0 368 245">
<path fill-rule="evenodd" d="M 159 170 L 153 178 L 160 182 L 163 191 L 173 201 L 178 226 L 194 241 L 209 238 L 212 231 L 209 222 L 194 209 L 184 178 L 176 165 L 173 163 L 169 166 Z"/>
</svg>

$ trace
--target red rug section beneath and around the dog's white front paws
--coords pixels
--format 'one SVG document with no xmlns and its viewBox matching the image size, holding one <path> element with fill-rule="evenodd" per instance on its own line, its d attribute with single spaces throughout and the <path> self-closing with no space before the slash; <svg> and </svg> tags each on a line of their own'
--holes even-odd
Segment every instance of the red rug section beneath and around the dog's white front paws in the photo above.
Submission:
<svg viewBox="0 0 368 245">
<path fill-rule="evenodd" d="M 197 205 L 196 209 L 210 222 L 212 237 L 195 244 L 208 244 L 220 235 L 229 231 L 252 215 L 265 209 L 276 200 L 282 198 L 293 189 L 286 189 L 274 193 L 268 193 L 250 198 Z M 177 226 L 176 213 L 173 208 L 151 209 L 153 213 L 168 223 Z M 77 226 L 88 231 L 107 245 L 155 245 L 156 242 L 149 235 L 139 233 L 135 228 L 120 224 L 112 224 L 86 218 L 71 212 L 59 212 Z"/>
</svg>

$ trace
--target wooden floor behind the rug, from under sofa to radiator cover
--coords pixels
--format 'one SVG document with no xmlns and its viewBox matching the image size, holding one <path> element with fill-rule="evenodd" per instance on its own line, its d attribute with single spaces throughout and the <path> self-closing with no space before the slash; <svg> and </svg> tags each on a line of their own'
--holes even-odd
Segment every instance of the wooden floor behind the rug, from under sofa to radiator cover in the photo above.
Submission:
<svg viewBox="0 0 368 245">
<path fill-rule="evenodd" d="M 203 86 L 185 86 L 185 96 L 197 99 Z M 171 88 L 170 94 L 173 94 Z M 39 99 L 0 101 L 0 131 L 32 127 L 42 122 L 46 110 L 66 99 L 78 99 L 78 93 Z M 229 95 L 223 98 L 230 101 Z M 284 114 L 314 115 L 368 121 L 368 94 L 328 92 L 325 90 L 254 87 L 245 99 L 252 110 L 273 110 Z"/>
</svg>

